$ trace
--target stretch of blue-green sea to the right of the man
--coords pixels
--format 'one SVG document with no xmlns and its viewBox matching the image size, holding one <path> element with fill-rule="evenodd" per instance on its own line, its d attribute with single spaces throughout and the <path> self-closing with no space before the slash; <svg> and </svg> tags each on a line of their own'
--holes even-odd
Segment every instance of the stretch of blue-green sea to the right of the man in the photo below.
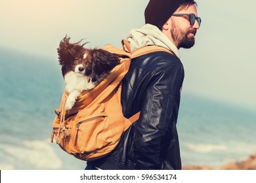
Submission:
<svg viewBox="0 0 256 183">
<path fill-rule="evenodd" d="M 219 167 L 256 152 L 256 111 L 184 95 L 178 120 L 183 165 Z"/>
</svg>

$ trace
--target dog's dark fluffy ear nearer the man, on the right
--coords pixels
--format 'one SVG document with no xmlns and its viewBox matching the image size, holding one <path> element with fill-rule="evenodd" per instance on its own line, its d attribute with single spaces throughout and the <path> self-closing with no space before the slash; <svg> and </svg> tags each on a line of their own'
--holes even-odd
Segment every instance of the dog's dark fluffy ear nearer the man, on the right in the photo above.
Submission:
<svg viewBox="0 0 256 183">
<path fill-rule="evenodd" d="M 120 63 L 117 54 L 112 54 L 102 49 L 92 50 L 93 56 L 93 71 L 96 75 L 109 73 L 116 65 Z"/>
</svg>

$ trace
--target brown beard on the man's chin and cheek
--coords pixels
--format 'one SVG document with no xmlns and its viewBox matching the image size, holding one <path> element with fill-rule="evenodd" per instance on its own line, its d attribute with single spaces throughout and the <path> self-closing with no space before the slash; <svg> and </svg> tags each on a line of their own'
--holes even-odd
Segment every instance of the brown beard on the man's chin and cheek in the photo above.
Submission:
<svg viewBox="0 0 256 183">
<path fill-rule="evenodd" d="M 188 31 L 182 31 L 181 28 L 177 27 L 173 24 L 171 29 L 171 37 L 175 44 L 177 44 L 177 48 L 191 48 L 195 44 L 194 37 L 188 37 L 188 34 L 192 33 L 196 35 L 196 29 L 189 29 Z"/>
</svg>

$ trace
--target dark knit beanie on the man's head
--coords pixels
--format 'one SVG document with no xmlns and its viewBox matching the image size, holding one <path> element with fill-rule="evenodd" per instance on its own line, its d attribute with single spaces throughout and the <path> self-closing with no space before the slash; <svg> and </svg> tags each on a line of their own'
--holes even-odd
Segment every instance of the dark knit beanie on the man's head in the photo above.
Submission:
<svg viewBox="0 0 256 183">
<path fill-rule="evenodd" d="M 188 0 L 150 0 L 144 12 L 145 24 L 156 25 L 161 29 L 185 1 Z"/>
</svg>

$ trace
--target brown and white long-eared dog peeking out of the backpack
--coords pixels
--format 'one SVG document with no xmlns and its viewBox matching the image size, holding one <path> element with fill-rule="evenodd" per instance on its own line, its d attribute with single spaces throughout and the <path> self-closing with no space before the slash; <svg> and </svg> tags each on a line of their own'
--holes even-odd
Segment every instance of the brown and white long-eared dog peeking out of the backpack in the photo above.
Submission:
<svg viewBox="0 0 256 183">
<path fill-rule="evenodd" d="M 81 44 L 81 41 L 71 43 L 70 37 L 66 36 L 57 48 L 65 90 L 69 93 L 64 110 L 70 110 L 83 90 L 95 88 L 120 63 L 117 54 L 85 48 L 88 42 Z"/>
</svg>

